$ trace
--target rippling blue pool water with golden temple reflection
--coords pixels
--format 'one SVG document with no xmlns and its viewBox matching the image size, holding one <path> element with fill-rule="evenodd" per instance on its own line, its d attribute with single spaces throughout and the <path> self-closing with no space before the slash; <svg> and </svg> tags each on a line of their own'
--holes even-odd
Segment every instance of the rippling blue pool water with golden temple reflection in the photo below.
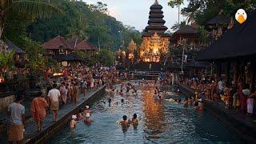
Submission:
<svg viewBox="0 0 256 144">
<path fill-rule="evenodd" d="M 94 112 L 91 126 L 78 122 L 74 132 L 66 126 L 47 143 L 242 143 L 207 111 L 198 113 L 193 108 L 158 102 L 152 95 L 153 88 L 140 89 L 142 94 L 138 96 L 106 94 L 91 106 Z M 116 121 L 124 114 L 131 118 L 134 113 L 138 114 L 139 125 L 130 126 L 124 133 Z"/>
</svg>

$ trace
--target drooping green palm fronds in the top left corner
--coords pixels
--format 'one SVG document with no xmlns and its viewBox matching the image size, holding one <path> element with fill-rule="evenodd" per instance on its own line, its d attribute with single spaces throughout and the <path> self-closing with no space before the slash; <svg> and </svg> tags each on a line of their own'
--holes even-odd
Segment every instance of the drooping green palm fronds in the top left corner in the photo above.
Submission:
<svg viewBox="0 0 256 144">
<path fill-rule="evenodd" d="M 25 13 L 34 17 L 46 18 L 53 13 L 62 13 L 57 7 L 49 2 L 39 2 L 38 0 L 1 0 L 0 1 L 0 38 L 5 27 L 6 15 L 10 12 L 16 14 Z"/>
</svg>

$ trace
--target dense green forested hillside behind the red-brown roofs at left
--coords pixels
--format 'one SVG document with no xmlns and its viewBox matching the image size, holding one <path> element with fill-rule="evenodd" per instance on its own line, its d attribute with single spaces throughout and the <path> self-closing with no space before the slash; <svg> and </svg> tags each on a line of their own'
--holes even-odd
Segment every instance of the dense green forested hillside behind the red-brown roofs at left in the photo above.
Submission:
<svg viewBox="0 0 256 144">
<path fill-rule="evenodd" d="M 106 50 L 117 50 L 123 40 L 125 45 L 132 38 L 138 44 L 141 42 L 141 33 L 108 15 L 106 4 L 102 2 L 87 5 L 86 2 L 51 0 L 50 4 L 59 7 L 64 14 L 50 19 L 38 18 L 30 23 L 27 32 L 35 41 L 46 42 L 57 35 L 68 38 L 76 33 Z"/>
</svg>

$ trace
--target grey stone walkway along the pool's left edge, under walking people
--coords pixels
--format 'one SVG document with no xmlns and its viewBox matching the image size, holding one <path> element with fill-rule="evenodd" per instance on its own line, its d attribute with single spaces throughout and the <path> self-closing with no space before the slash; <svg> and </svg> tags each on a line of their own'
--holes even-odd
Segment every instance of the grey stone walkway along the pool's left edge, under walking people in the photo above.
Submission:
<svg viewBox="0 0 256 144">
<path fill-rule="evenodd" d="M 78 97 L 78 105 L 74 105 L 74 103 L 69 103 L 69 104 L 66 104 L 66 106 L 62 106 L 62 108 L 58 111 L 58 119 L 61 119 L 64 116 L 66 116 L 66 114 L 68 114 L 71 110 L 74 110 L 74 108 L 81 105 L 83 102 L 86 101 L 86 99 L 90 98 L 92 94 L 94 94 L 96 91 L 100 89 L 102 89 L 102 87 L 98 88 L 97 90 L 90 90 L 90 92 L 86 93 L 86 97 L 84 97 L 83 94 L 80 94 Z M 51 113 L 47 114 L 43 122 L 43 130 L 46 130 L 48 127 L 54 125 L 54 122 L 52 121 L 53 121 L 52 114 Z M 24 140 L 27 141 L 28 139 L 33 138 L 35 135 L 43 133 L 43 130 L 41 132 L 38 132 L 38 126 L 34 122 L 34 119 L 33 118 L 27 119 Z M 7 143 L 7 135 L 0 136 L 0 143 Z"/>
</svg>

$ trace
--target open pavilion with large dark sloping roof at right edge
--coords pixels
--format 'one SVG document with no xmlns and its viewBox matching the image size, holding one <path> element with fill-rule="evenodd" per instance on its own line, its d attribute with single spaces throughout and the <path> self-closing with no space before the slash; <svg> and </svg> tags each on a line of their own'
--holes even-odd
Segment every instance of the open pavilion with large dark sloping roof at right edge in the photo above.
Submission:
<svg viewBox="0 0 256 144">
<path fill-rule="evenodd" d="M 234 86 L 238 82 L 250 85 L 250 90 L 255 86 L 256 66 L 256 10 L 248 15 L 246 22 L 236 23 L 221 38 L 198 54 L 198 60 L 214 62 L 217 64 L 218 78 L 225 71 L 227 86 L 231 80 Z M 230 77 L 233 75 L 233 78 Z"/>
</svg>

